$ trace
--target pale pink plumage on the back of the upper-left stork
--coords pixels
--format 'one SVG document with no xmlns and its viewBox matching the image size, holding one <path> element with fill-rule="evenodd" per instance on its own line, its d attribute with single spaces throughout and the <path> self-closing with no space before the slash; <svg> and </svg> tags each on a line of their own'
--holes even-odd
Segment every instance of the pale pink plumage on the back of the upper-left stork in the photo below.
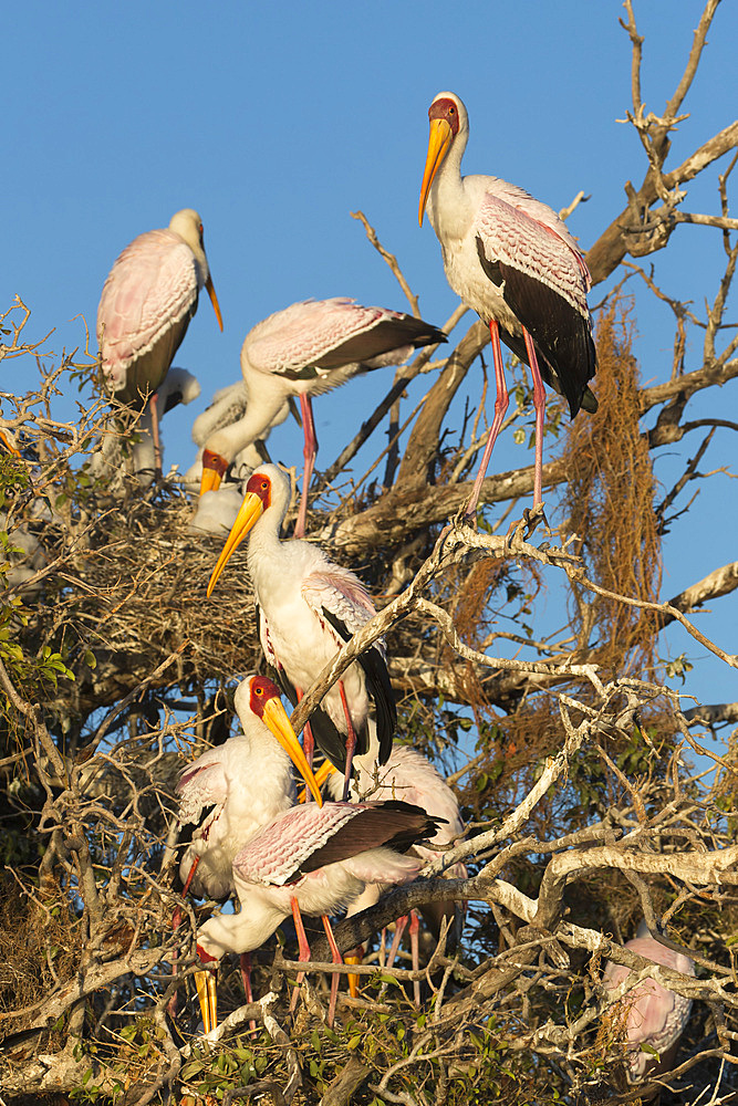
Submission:
<svg viewBox="0 0 738 1106">
<path fill-rule="evenodd" d="M 126 247 L 111 269 L 97 309 L 103 369 L 114 388 L 125 385 L 132 362 L 193 314 L 197 294 L 195 255 L 178 234 L 149 230 Z"/>
</svg>

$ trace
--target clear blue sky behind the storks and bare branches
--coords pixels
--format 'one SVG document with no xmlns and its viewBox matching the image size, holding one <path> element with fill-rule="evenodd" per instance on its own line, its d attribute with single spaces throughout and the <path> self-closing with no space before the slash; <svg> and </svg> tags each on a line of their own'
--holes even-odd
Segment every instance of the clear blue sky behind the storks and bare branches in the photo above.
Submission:
<svg viewBox="0 0 738 1106">
<path fill-rule="evenodd" d="M 661 111 L 674 91 L 700 9 L 695 0 L 636 3 L 647 108 Z M 177 357 L 202 385 L 197 413 L 238 377 L 243 336 L 270 312 L 334 294 L 404 306 L 350 218 L 361 208 L 397 254 L 425 317 L 440 324 L 456 301 L 433 231 L 417 225 L 433 95 L 451 88 L 466 101 L 466 171 L 497 174 L 554 208 L 580 189 L 590 195 L 570 222 L 586 248 L 623 207 L 623 182 L 644 174 L 634 131 L 617 122 L 631 106 L 622 14 L 617 0 L 17 6 L 4 18 L 1 76 L 0 310 L 18 293 L 33 312 L 28 337 L 55 326 L 51 348 L 82 344 L 75 316 L 94 331 L 100 290 L 121 249 L 166 226 L 178 208 L 196 207 L 225 320 L 221 335 L 204 300 Z M 725 90 L 737 39 L 738 13 L 724 3 L 686 104 L 692 116 L 674 136 L 673 164 L 731 122 L 735 97 Z M 709 187 L 690 189 L 686 208 L 717 210 L 715 174 Z M 699 305 L 714 295 L 721 249 L 717 231 L 680 228 L 668 268 L 653 260 L 669 294 Z M 668 311 L 638 295 L 638 327 L 643 378 L 664 379 Z M 698 363 L 694 344 L 687 368 Z M 368 378 L 320 401 L 319 467 L 384 387 Z M 735 401 L 735 385 L 721 397 L 726 407 Z M 193 410 L 165 422 L 168 462 L 186 467 L 193 458 Z M 274 456 L 299 462 L 298 428 L 278 434 Z M 729 432 L 719 434 L 703 469 L 732 463 Z M 690 456 L 697 441 L 678 453 Z M 528 460 L 520 452 L 495 459 L 498 468 Z M 668 466 L 656 465 L 667 486 Z M 717 479 L 723 502 L 735 502 L 735 482 Z M 698 504 L 675 524 L 665 596 L 735 557 L 735 518 L 727 510 L 715 526 Z M 735 649 L 738 604 L 731 597 L 714 607 L 700 625 Z M 697 660 L 682 630 L 669 639 L 674 653 Z M 735 685 L 735 672 L 698 661 L 693 687 L 706 701 L 738 698 Z"/>
</svg>

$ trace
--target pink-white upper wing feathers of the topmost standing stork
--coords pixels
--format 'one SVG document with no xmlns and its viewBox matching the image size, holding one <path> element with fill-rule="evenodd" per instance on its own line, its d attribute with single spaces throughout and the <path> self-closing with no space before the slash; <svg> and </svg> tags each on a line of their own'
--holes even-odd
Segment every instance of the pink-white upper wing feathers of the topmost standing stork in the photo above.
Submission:
<svg viewBox="0 0 738 1106">
<path fill-rule="evenodd" d="M 554 216 L 545 205 L 538 207 Z M 551 226 L 552 221 L 536 219 L 507 199 L 487 192 L 477 212 L 475 231 L 488 261 L 501 261 L 540 281 L 589 319 L 586 292 L 591 282 L 586 264 L 564 225 L 565 237 Z"/>
</svg>

